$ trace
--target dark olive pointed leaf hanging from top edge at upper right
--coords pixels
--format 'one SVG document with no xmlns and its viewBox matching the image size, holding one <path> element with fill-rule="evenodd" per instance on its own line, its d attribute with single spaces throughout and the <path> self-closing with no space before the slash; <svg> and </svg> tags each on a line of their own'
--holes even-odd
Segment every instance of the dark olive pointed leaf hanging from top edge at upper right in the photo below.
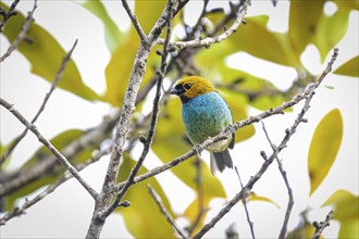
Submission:
<svg viewBox="0 0 359 239">
<path fill-rule="evenodd" d="M 298 59 L 318 30 L 324 3 L 324 0 L 312 1 L 309 8 L 306 1 L 290 1 L 288 35 Z"/>
</svg>

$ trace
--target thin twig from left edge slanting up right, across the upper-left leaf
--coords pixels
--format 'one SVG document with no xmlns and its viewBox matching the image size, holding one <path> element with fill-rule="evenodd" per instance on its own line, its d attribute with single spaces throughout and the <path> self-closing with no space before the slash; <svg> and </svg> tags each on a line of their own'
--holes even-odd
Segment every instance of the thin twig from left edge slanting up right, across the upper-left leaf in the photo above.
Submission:
<svg viewBox="0 0 359 239">
<path fill-rule="evenodd" d="M 47 104 L 47 102 L 49 101 L 51 93 L 53 92 L 53 90 L 57 88 L 59 80 L 61 79 L 63 72 L 67 65 L 67 62 L 71 59 L 72 52 L 74 51 L 75 47 L 77 45 L 77 39 L 75 40 L 74 45 L 72 46 L 71 50 L 67 52 L 67 54 L 65 55 L 65 58 L 62 60 L 60 68 L 58 70 L 54 79 L 50 86 L 50 90 L 49 92 L 46 93 L 45 99 L 39 108 L 39 110 L 37 111 L 36 115 L 34 116 L 34 118 L 32 120 L 32 124 L 34 124 L 37 118 L 40 116 L 40 114 L 42 113 L 42 111 L 45 110 L 45 106 Z M 18 142 L 21 140 L 23 140 L 23 138 L 26 136 L 28 131 L 28 128 L 25 128 L 24 131 L 18 135 L 11 143 L 11 146 L 9 147 L 9 149 L 1 155 L 0 158 L 0 166 L 2 165 L 2 163 L 10 156 L 10 154 L 12 153 L 12 151 L 15 149 L 15 147 L 18 144 Z"/>
</svg>

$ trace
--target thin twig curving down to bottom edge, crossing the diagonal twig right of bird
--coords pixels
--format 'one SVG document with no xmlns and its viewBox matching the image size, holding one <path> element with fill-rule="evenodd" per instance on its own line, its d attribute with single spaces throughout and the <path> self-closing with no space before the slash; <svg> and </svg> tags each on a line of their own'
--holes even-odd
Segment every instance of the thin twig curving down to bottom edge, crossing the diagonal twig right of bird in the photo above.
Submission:
<svg viewBox="0 0 359 239">
<path fill-rule="evenodd" d="M 268 135 L 268 131 L 265 129 L 264 123 L 263 122 L 261 122 L 261 123 L 262 123 L 262 128 L 263 128 L 265 138 L 267 138 L 268 142 L 270 143 L 273 152 L 277 151 L 277 147 L 274 146 L 274 143 L 271 141 L 271 139 L 270 139 L 270 137 Z M 293 209 L 293 205 L 294 205 L 294 198 L 293 198 L 293 190 L 292 190 L 290 185 L 289 185 L 289 181 L 288 181 L 287 173 L 284 171 L 283 164 L 282 164 L 281 160 L 277 156 L 275 159 L 276 159 L 276 162 L 278 164 L 278 169 L 280 169 L 281 175 L 283 177 L 285 187 L 287 188 L 287 191 L 288 191 L 287 209 L 285 211 L 284 222 L 283 222 L 283 225 L 282 225 L 282 228 L 281 228 L 281 232 L 280 232 L 280 236 L 278 236 L 278 238 L 285 238 L 285 235 L 287 232 L 287 227 L 288 227 L 288 222 L 289 222 L 292 209 Z"/>
</svg>

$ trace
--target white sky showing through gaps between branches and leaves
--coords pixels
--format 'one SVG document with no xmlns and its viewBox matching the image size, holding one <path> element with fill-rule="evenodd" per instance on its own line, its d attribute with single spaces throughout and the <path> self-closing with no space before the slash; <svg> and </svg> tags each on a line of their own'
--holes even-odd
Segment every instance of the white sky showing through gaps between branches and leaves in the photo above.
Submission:
<svg viewBox="0 0 359 239">
<path fill-rule="evenodd" d="M 9 4 L 9 1 L 4 2 Z M 199 8 L 197 2 L 190 2 L 190 4 L 194 10 Z M 109 7 L 108 11 L 114 21 L 120 24 L 121 17 L 117 15 L 126 15 L 121 3 L 107 1 L 106 5 Z M 21 1 L 18 4 L 18 9 L 23 13 L 32 8 L 32 1 Z M 333 5 L 327 5 L 326 11 L 329 13 L 333 11 Z M 249 15 L 271 14 L 269 26 L 280 32 L 286 30 L 287 12 L 288 2 L 285 1 L 280 1 L 276 8 L 273 8 L 270 1 L 252 1 L 249 9 Z M 110 54 L 104 45 L 101 23 L 79 5 L 70 1 L 39 1 L 35 18 L 37 23 L 52 33 L 66 50 L 71 48 L 76 38 L 78 39 L 73 58 L 83 79 L 97 92 L 103 92 L 106 87 L 103 72 Z M 358 54 L 358 13 L 351 13 L 348 34 L 338 45 L 339 56 L 335 63 L 336 66 Z M 128 22 L 124 27 L 126 26 L 128 26 Z M 0 40 L 1 52 L 3 52 L 4 49 L 8 49 L 9 43 L 2 36 Z M 314 47 L 307 48 L 302 54 L 302 61 L 306 63 L 306 67 L 314 74 L 319 74 L 324 68 L 324 65 L 319 63 L 319 53 Z M 281 88 L 287 87 L 286 84 L 290 81 L 288 79 L 294 78 L 294 73 L 288 67 L 263 62 L 246 53 L 238 53 L 234 58 L 230 58 L 228 64 L 232 66 L 238 64 L 247 72 L 260 77 L 270 75 L 271 78 L 276 79 L 274 84 Z M 48 91 L 49 84 L 35 75 L 29 75 L 28 72 L 29 64 L 17 52 L 14 52 L 11 58 L 1 63 L 1 97 L 14 103 L 15 108 L 27 118 L 32 118 Z M 334 87 L 334 89 L 322 86 L 317 90 L 311 109 L 307 114 L 309 122 L 299 126 L 297 134 L 290 139 L 288 148 L 283 150 L 280 155 L 284 160 L 284 167 L 287 171 L 295 196 L 289 229 L 297 225 L 298 218 L 296 215 L 307 206 L 314 209 L 310 214 L 310 218 L 323 219 L 329 209 L 319 207 L 337 189 L 347 189 L 358 194 L 358 79 L 330 75 L 323 85 Z M 295 112 L 292 114 L 273 116 L 264 121 L 273 142 L 278 142 L 283 138 L 284 130 L 293 124 L 300 106 L 301 104 L 296 106 Z M 326 179 L 309 198 L 306 159 L 310 140 L 318 123 L 334 108 L 341 110 L 344 118 L 342 147 Z M 57 89 L 36 125 L 47 138 L 52 138 L 65 129 L 86 129 L 97 125 L 110 110 L 110 106 L 104 103 L 90 103 Z M 23 126 L 2 108 L 0 113 L 1 141 L 8 143 L 23 130 Z M 249 113 L 255 115 L 259 112 L 251 109 Z M 268 154 L 270 153 L 261 125 L 257 124 L 255 126 L 257 134 L 251 139 L 236 144 L 235 150 L 231 153 L 235 160 L 235 165 L 239 168 L 244 183 L 261 165 L 262 159 L 259 152 L 265 150 Z M 10 168 L 22 165 L 39 146 L 37 139 L 28 134 L 14 152 Z M 209 162 L 207 153 L 203 153 L 203 158 Z M 151 164 L 146 162 L 146 166 L 149 168 L 160 164 L 160 161 L 151 162 Z M 106 158 L 82 173 L 82 176 L 98 191 L 102 185 L 107 165 L 108 159 Z M 232 198 L 239 190 L 234 172 L 226 171 L 224 174 L 219 175 L 219 178 L 222 180 L 228 198 Z M 168 192 L 174 211 L 183 212 L 191 202 L 193 192 L 171 173 L 162 174 L 158 179 Z M 258 238 L 277 237 L 286 209 L 287 192 L 275 164 L 269 168 L 253 190 L 281 205 L 281 209 L 276 209 L 263 202 L 249 204 L 251 219 L 255 222 L 256 236 Z M 220 210 L 223 202 L 223 200 L 212 202 L 213 210 L 210 211 L 208 218 L 211 218 Z M 83 238 L 86 235 L 92 210 L 92 199 L 76 180 L 72 179 L 40 203 L 30 207 L 26 215 L 14 218 L 7 226 L 1 227 L 1 238 Z M 206 237 L 224 237 L 224 229 L 233 222 L 236 223 L 240 238 L 250 237 L 245 212 L 239 204 Z M 181 223 L 185 224 L 185 222 Z M 326 238 L 336 237 L 337 229 L 338 224 L 333 222 L 325 229 L 324 236 Z M 131 235 L 126 231 L 121 216 L 113 214 L 108 218 L 101 237 L 131 237 Z"/>
</svg>

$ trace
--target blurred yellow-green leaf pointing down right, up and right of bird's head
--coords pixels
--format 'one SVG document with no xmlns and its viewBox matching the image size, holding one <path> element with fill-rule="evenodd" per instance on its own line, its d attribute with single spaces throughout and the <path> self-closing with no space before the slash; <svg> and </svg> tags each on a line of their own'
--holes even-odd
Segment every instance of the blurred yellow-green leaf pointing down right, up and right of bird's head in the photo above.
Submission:
<svg viewBox="0 0 359 239">
<path fill-rule="evenodd" d="M 246 24 L 228 40 L 237 51 L 246 51 L 263 60 L 298 67 L 298 59 L 290 49 L 288 37 L 270 32 L 267 28 L 268 20 L 269 16 L 264 15 L 247 17 Z"/>
</svg>

